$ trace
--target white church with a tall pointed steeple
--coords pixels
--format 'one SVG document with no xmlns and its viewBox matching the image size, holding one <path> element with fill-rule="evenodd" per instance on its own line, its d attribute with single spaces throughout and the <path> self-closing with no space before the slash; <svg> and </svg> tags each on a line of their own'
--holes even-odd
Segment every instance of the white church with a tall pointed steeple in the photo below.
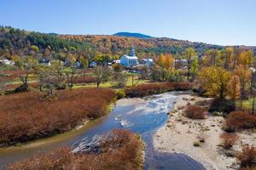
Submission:
<svg viewBox="0 0 256 170">
<path fill-rule="evenodd" d="M 137 56 L 135 54 L 135 50 L 133 47 L 131 47 L 131 53 L 124 54 L 120 59 L 120 64 L 125 67 L 132 67 L 137 65 Z"/>
</svg>

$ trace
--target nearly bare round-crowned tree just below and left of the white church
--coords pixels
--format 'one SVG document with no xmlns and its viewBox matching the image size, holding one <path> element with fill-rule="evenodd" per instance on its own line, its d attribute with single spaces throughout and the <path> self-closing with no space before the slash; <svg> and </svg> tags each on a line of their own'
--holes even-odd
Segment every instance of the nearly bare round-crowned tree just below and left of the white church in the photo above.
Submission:
<svg viewBox="0 0 256 170">
<path fill-rule="evenodd" d="M 96 76 L 97 88 L 99 88 L 103 81 L 108 81 L 111 76 L 111 70 L 108 66 L 96 65 L 96 67 L 93 68 L 93 72 Z"/>
</svg>

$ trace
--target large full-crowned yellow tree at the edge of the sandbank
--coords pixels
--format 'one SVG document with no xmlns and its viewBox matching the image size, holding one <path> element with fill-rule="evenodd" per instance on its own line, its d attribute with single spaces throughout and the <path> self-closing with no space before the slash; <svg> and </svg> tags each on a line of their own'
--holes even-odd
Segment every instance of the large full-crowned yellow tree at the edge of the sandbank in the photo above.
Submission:
<svg viewBox="0 0 256 170">
<path fill-rule="evenodd" d="M 218 96 L 221 99 L 224 99 L 227 94 L 230 78 L 230 71 L 226 71 L 223 68 L 216 66 L 203 68 L 198 75 L 198 79 L 202 86 L 207 90 L 207 94 Z"/>
</svg>

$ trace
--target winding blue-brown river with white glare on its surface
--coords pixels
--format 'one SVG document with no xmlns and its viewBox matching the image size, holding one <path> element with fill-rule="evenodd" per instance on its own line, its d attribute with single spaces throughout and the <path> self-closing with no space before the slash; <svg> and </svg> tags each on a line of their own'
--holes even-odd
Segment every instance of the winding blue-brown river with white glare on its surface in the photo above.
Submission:
<svg viewBox="0 0 256 170">
<path fill-rule="evenodd" d="M 106 133 L 113 128 L 126 128 L 140 133 L 146 143 L 144 169 L 201 170 L 201 163 L 183 154 L 168 154 L 154 150 L 152 136 L 168 119 L 179 93 L 166 93 L 143 99 L 119 99 L 108 116 L 68 133 L 16 147 L 0 149 L 0 168 L 6 164 L 24 159 L 55 148 L 72 145 L 75 147 L 84 138 Z"/>
</svg>

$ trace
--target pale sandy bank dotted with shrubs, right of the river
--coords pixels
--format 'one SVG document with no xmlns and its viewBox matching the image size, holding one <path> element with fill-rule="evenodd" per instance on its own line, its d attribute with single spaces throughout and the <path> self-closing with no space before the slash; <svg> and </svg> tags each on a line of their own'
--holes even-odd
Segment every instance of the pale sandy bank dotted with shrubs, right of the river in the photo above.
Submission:
<svg viewBox="0 0 256 170">
<path fill-rule="evenodd" d="M 168 122 L 154 134 L 154 148 L 163 152 L 183 153 L 200 161 L 207 169 L 237 169 L 236 158 L 226 156 L 220 146 L 219 135 L 224 132 L 222 116 L 207 116 L 205 120 L 192 120 L 183 116 L 186 105 L 202 100 L 207 99 L 191 94 L 178 95 Z M 255 133 L 237 134 L 240 138 L 233 147 L 235 151 L 241 151 L 242 144 L 256 143 Z M 205 142 L 195 147 L 194 143 L 202 138 Z"/>
</svg>

